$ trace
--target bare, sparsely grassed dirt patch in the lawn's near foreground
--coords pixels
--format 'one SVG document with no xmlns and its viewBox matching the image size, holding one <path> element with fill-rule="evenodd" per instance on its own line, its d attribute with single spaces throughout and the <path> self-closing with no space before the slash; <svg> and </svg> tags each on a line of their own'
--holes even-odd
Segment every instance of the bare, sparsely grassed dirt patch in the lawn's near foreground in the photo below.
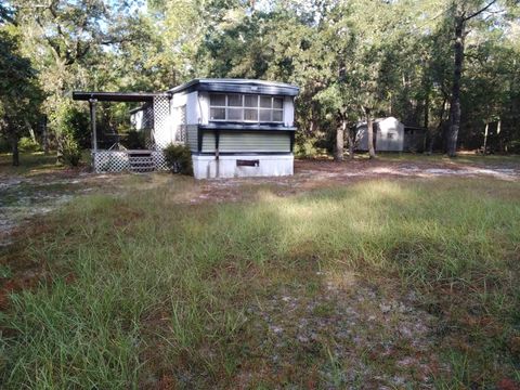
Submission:
<svg viewBox="0 0 520 390">
<path fill-rule="evenodd" d="M 448 368 L 435 354 L 437 318 L 413 294 L 389 295 L 354 275 L 318 272 L 318 290 L 286 286 L 247 309 L 256 339 L 240 388 L 273 381 L 314 388 L 431 388 Z M 307 367 L 302 373 L 297 367 Z"/>
</svg>

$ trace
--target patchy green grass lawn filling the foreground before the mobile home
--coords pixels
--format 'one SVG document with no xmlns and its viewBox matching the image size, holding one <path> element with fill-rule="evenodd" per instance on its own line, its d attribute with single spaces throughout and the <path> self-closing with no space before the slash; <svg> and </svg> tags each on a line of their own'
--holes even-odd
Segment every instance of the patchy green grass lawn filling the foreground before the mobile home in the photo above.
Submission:
<svg viewBox="0 0 520 390">
<path fill-rule="evenodd" d="M 520 381 L 518 182 L 183 188 L 82 196 L 4 253 L 43 264 L 0 317 L 4 388 Z"/>
</svg>

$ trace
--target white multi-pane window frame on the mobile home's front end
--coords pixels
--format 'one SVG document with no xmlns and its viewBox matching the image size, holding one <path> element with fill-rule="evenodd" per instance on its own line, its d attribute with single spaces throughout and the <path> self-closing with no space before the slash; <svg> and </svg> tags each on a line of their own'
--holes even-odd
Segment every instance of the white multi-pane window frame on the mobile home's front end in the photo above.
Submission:
<svg viewBox="0 0 520 390">
<path fill-rule="evenodd" d="M 221 95 L 224 96 L 224 105 L 212 105 L 211 104 L 211 96 L 212 95 Z M 232 106 L 230 105 L 230 95 L 239 95 L 242 105 L 239 106 Z M 257 105 L 251 107 L 251 106 L 246 106 L 246 96 L 256 96 L 257 98 Z M 271 107 L 261 107 L 260 106 L 260 99 L 261 98 L 270 98 L 271 100 Z M 274 107 L 274 100 L 280 99 L 282 101 L 282 107 L 281 108 L 275 108 Z M 210 93 L 209 94 L 209 121 L 217 121 L 217 122 L 223 122 L 223 121 L 236 121 L 236 122 L 244 122 L 244 123 L 284 123 L 284 96 L 277 96 L 277 95 L 262 95 L 262 94 L 255 94 L 255 93 Z M 224 119 L 211 119 L 211 109 L 224 109 Z M 242 115 L 240 119 L 230 119 L 230 109 L 242 109 Z M 250 109 L 250 110 L 257 110 L 257 120 L 252 119 L 245 119 L 245 110 Z M 270 120 L 260 120 L 260 113 L 261 112 L 266 112 L 269 110 L 269 117 Z M 281 120 L 274 120 L 274 113 L 281 113 L 282 118 Z"/>
</svg>

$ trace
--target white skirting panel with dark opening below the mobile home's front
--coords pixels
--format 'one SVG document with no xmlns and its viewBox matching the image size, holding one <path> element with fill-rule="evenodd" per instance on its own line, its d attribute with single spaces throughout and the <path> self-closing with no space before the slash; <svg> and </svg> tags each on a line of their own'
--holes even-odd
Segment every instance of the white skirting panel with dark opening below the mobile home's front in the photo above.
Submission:
<svg viewBox="0 0 520 390">
<path fill-rule="evenodd" d="M 278 177 L 294 173 L 295 157 L 290 155 L 240 155 L 240 156 L 197 156 L 193 157 L 195 179 Z M 256 167 L 239 167 L 237 160 L 258 160 Z"/>
</svg>

